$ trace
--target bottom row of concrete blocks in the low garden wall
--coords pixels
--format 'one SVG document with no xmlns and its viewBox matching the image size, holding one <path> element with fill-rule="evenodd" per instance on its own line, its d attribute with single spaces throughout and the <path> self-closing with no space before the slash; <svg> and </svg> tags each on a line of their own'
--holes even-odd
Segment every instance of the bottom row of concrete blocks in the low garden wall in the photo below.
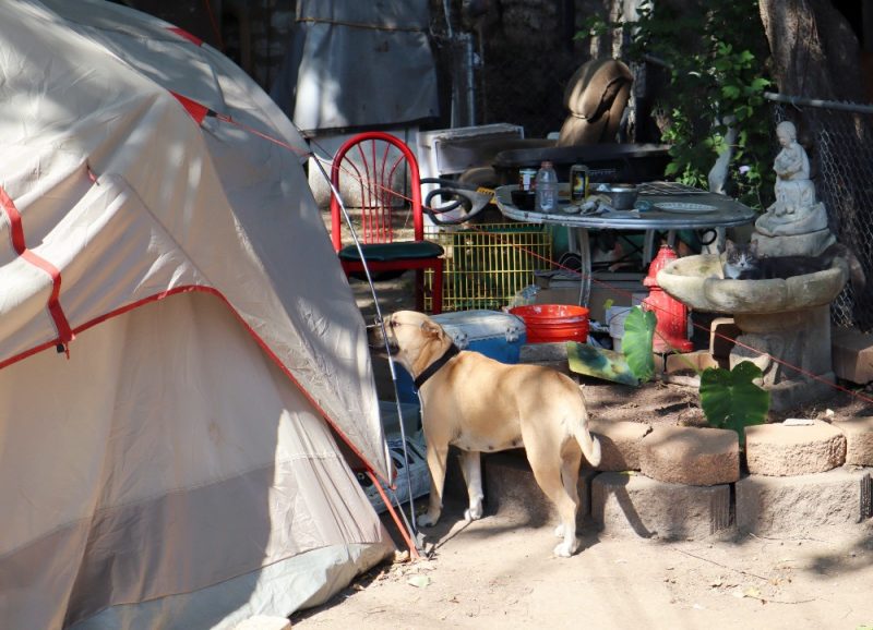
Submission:
<svg viewBox="0 0 873 630">
<path fill-rule="evenodd" d="M 483 484 L 486 516 L 499 514 L 519 526 L 558 524 L 523 450 L 485 457 Z M 451 492 L 466 493 L 458 486 Z M 583 469 L 577 487 L 579 526 L 617 537 L 705 540 L 740 531 L 788 538 L 873 517 L 871 469 L 850 467 L 790 477 L 745 475 L 710 486 Z"/>
</svg>

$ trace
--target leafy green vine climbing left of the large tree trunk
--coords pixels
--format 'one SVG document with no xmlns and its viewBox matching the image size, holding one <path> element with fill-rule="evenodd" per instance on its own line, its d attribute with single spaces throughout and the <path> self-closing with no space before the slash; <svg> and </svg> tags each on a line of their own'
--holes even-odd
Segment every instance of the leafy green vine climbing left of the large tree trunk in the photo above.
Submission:
<svg viewBox="0 0 873 630">
<path fill-rule="evenodd" d="M 650 0 L 638 21 L 609 23 L 594 16 L 577 39 L 621 29 L 629 61 L 666 63 L 658 97 L 662 142 L 671 145 L 667 175 L 707 187 L 707 173 L 726 147 L 732 118 L 738 130 L 728 168 L 727 193 L 755 208 L 773 201 L 773 117 L 763 93 L 770 86 L 769 48 L 756 0 L 685 4 L 683 10 Z M 649 65 L 649 68 L 653 68 Z"/>
</svg>

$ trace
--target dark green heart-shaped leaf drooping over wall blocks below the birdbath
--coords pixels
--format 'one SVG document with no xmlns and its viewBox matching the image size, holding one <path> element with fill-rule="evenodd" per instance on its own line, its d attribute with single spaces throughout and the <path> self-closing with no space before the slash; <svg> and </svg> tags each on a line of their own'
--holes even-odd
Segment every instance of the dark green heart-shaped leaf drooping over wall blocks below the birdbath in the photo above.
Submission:
<svg viewBox="0 0 873 630">
<path fill-rule="evenodd" d="M 761 368 L 750 361 L 728 372 L 709 367 L 701 375 L 701 407 L 710 426 L 731 428 L 745 441 L 746 426 L 762 424 L 770 407 L 770 395 L 753 381 Z"/>
</svg>

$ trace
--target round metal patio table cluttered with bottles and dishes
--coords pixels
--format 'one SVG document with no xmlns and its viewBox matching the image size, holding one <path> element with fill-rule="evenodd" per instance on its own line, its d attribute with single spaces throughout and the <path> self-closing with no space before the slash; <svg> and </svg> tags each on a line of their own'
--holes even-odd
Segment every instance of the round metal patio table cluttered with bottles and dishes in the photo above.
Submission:
<svg viewBox="0 0 873 630">
<path fill-rule="evenodd" d="M 656 231 L 668 232 L 668 242 L 672 244 L 677 230 L 704 230 L 713 228 L 731 228 L 750 223 L 757 217 L 757 211 L 740 202 L 674 182 L 646 182 L 639 184 L 639 202 L 647 202 L 649 209 L 613 210 L 599 215 L 582 215 L 578 213 L 537 213 L 517 207 L 512 202 L 512 191 L 518 186 L 499 186 L 494 201 L 500 211 L 509 219 L 529 223 L 549 223 L 569 228 L 570 247 L 579 255 L 579 304 L 587 305 L 591 288 L 591 255 L 588 243 L 588 230 L 627 230 L 645 231 L 646 251 L 644 263 L 651 261 L 651 241 Z M 569 184 L 561 184 L 562 199 L 566 199 Z M 566 204 L 562 203 L 562 208 Z"/>
</svg>

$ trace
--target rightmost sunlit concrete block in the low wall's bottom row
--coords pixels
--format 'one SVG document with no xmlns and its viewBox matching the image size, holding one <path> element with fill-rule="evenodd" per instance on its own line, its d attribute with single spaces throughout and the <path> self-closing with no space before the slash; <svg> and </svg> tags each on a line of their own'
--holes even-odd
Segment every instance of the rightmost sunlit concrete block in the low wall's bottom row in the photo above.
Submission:
<svg viewBox="0 0 873 630">
<path fill-rule="evenodd" d="M 869 519 L 870 471 L 844 467 L 790 477 L 748 475 L 737 482 L 736 501 L 741 532 L 802 536 Z"/>
</svg>

